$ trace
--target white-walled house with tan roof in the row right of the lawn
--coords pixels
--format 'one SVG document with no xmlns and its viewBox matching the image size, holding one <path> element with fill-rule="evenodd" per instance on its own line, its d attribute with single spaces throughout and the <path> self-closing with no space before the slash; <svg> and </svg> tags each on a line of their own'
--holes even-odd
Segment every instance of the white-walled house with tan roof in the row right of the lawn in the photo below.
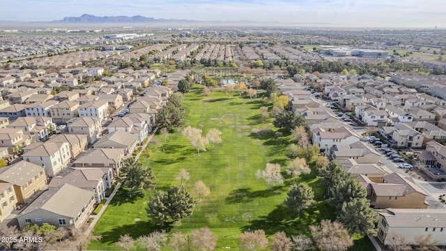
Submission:
<svg viewBox="0 0 446 251">
<path fill-rule="evenodd" d="M 359 142 L 361 137 L 350 127 L 341 127 L 332 130 L 316 128 L 313 130 L 313 144 L 319 146 L 321 151 L 330 149 L 334 144 L 353 144 Z"/>
</svg>

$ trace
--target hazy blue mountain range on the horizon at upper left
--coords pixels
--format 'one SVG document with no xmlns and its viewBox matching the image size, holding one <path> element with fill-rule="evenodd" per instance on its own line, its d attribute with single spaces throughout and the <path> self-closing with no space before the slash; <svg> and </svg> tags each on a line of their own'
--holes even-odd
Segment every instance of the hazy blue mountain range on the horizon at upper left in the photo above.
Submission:
<svg viewBox="0 0 446 251">
<path fill-rule="evenodd" d="M 153 17 L 143 17 L 141 15 L 128 16 L 105 16 L 84 14 L 80 17 L 63 17 L 63 20 L 53 21 L 56 23 L 144 23 L 144 22 L 194 22 L 193 20 L 165 20 Z"/>
</svg>

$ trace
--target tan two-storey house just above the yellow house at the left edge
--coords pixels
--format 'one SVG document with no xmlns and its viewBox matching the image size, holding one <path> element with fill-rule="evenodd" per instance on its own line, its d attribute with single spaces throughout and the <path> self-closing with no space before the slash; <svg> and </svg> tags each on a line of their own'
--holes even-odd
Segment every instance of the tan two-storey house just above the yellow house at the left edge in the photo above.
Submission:
<svg viewBox="0 0 446 251">
<path fill-rule="evenodd" d="M 24 204 L 39 190 L 43 190 L 47 185 L 47 176 L 42 166 L 21 160 L 1 169 L 0 183 L 12 185 L 16 202 Z"/>
</svg>

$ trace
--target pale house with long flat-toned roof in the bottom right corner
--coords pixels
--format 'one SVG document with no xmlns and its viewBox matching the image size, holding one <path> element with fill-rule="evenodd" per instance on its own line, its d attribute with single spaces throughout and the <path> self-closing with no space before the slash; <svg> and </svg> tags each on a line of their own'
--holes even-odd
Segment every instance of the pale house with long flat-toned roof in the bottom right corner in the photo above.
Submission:
<svg viewBox="0 0 446 251">
<path fill-rule="evenodd" d="M 378 211 L 378 239 L 384 245 L 418 245 L 415 238 L 427 238 L 446 245 L 446 210 L 387 208 Z M 404 236 L 398 238 L 397 234 Z"/>
</svg>

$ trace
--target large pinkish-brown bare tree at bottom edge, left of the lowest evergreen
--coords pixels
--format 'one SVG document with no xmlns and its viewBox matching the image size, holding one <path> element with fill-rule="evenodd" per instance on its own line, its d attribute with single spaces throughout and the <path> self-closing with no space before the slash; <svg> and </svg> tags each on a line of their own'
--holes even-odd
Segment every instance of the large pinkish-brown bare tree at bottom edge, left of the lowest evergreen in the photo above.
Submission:
<svg viewBox="0 0 446 251">
<path fill-rule="evenodd" d="M 353 245 L 348 231 L 339 222 L 321 220 L 319 226 L 309 226 L 313 239 L 320 250 L 342 251 Z"/>
</svg>

